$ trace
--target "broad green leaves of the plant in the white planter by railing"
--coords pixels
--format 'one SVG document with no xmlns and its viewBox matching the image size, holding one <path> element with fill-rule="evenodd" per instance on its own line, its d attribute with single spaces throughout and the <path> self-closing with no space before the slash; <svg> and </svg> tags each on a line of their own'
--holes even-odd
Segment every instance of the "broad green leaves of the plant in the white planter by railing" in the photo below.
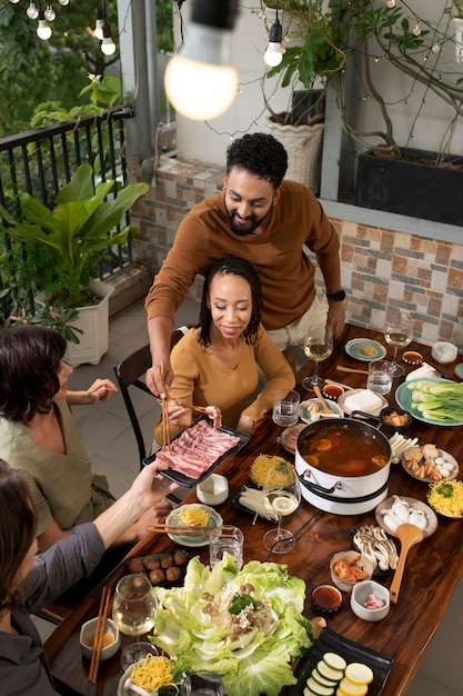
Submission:
<svg viewBox="0 0 463 696">
<path fill-rule="evenodd" d="M 48 301 L 56 307 L 88 304 L 88 284 L 111 245 L 123 243 L 130 227 L 119 229 L 125 212 L 145 193 L 145 183 L 129 183 L 105 200 L 114 181 L 93 183 L 93 169 L 81 165 L 57 196 L 52 210 L 29 193 L 19 193 L 22 217 L 0 206 L 8 232 L 24 242 L 29 261 Z"/>
</svg>

